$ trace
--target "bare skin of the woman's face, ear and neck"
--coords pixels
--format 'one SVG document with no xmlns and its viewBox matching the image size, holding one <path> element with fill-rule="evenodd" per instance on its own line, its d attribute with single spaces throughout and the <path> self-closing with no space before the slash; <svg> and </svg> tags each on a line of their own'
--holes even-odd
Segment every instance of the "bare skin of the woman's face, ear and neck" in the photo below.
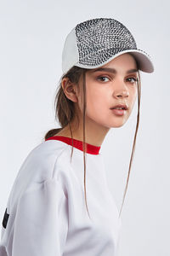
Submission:
<svg viewBox="0 0 170 256">
<path fill-rule="evenodd" d="M 105 136 L 111 128 L 118 128 L 127 122 L 133 110 L 138 93 L 138 84 L 135 79 L 139 79 L 138 72 L 127 73 L 130 69 L 137 69 L 133 55 L 122 54 L 117 56 L 102 67 L 115 68 L 117 73 L 98 71 L 89 69 L 86 73 L 86 143 L 94 146 L 101 146 Z M 99 76 L 104 77 L 100 78 Z M 82 126 L 82 78 L 80 79 L 80 90 L 77 84 L 72 84 L 67 78 L 62 80 L 62 88 L 65 96 L 75 102 L 80 124 L 77 119 L 71 122 L 73 138 L 83 141 Z M 111 111 L 116 104 L 126 103 L 128 106 L 124 115 L 118 116 Z M 71 137 L 69 125 L 55 136 Z"/>
</svg>

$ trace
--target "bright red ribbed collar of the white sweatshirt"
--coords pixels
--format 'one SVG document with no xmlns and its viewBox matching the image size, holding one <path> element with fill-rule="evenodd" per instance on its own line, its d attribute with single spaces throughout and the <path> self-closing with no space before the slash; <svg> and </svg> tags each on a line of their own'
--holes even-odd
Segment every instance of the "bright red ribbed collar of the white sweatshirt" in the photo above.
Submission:
<svg viewBox="0 0 170 256">
<path fill-rule="evenodd" d="M 59 140 L 61 142 L 67 143 L 72 146 L 71 137 L 53 136 L 53 137 L 48 137 L 48 139 L 46 139 L 45 141 L 48 141 L 48 140 Z M 82 150 L 82 141 L 79 141 L 79 140 L 73 138 L 73 147 Z M 100 146 L 94 146 L 92 144 L 87 143 L 87 153 L 88 154 L 99 154 L 100 148 L 101 148 Z"/>
</svg>

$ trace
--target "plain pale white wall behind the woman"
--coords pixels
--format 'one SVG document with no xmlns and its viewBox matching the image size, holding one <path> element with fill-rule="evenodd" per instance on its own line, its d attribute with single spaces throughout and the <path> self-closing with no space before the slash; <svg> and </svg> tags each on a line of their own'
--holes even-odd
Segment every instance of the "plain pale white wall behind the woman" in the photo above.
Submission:
<svg viewBox="0 0 170 256">
<path fill-rule="evenodd" d="M 154 61 L 143 73 L 140 124 L 122 208 L 120 256 L 170 255 L 168 1 L 1 1 L 0 3 L 0 219 L 14 177 L 54 120 L 54 96 L 65 37 L 97 17 L 121 21 Z M 120 209 L 136 125 L 137 102 L 127 123 L 102 144 L 108 183 Z"/>
</svg>

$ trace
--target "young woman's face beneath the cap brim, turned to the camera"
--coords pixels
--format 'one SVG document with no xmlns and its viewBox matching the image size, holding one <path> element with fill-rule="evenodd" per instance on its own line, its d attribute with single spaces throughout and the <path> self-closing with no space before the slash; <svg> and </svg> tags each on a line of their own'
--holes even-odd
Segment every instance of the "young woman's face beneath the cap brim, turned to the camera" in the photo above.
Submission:
<svg viewBox="0 0 170 256">
<path fill-rule="evenodd" d="M 101 68 L 108 69 L 99 70 Z M 127 53 L 117 56 L 102 67 L 89 69 L 86 73 L 87 120 L 107 128 L 124 125 L 136 100 L 137 79 L 136 61 Z M 117 115 L 111 110 L 117 104 L 127 104 L 123 115 Z M 79 97 L 78 105 L 82 112 L 82 97 Z"/>
</svg>

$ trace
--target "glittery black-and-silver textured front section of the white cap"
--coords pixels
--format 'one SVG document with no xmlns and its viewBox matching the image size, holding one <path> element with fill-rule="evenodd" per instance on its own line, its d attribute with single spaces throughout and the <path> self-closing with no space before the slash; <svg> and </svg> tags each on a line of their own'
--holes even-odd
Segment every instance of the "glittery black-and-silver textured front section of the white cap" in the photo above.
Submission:
<svg viewBox="0 0 170 256">
<path fill-rule="evenodd" d="M 76 26 L 79 63 L 96 66 L 122 50 L 137 49 L 133 35 L 121 22 L 99 18 Z"/>
</svg>

